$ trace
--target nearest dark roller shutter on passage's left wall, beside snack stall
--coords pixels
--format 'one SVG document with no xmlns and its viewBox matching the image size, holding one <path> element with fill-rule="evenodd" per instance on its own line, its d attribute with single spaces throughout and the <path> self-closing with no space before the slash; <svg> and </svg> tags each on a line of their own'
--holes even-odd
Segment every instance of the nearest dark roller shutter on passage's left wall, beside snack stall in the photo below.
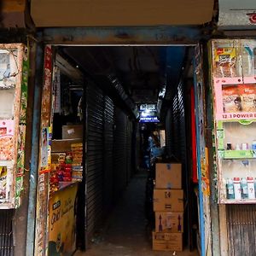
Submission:
<svg viewBox="0 0 256 256">
<path fill-rule="evenodd" d="M 104 96 L 94 84 L 87 86 L 86 104 L 85 203 L 86 236 L 90 239 L 102 224 L 104 183 Z"/>
</svg>

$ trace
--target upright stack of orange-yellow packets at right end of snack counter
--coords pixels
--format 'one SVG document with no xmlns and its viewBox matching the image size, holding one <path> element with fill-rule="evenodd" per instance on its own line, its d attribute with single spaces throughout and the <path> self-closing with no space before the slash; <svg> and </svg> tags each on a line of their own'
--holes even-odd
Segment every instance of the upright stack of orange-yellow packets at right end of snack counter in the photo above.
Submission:
<svg viewBox="0 0 256 256">
<path fill-rule="evenodd" d="M 72 163 L 72 180 L 82 181 L 83 178 L 83 143 L 71 144 L 71 150 L 73 154 Z"/>
</svg>

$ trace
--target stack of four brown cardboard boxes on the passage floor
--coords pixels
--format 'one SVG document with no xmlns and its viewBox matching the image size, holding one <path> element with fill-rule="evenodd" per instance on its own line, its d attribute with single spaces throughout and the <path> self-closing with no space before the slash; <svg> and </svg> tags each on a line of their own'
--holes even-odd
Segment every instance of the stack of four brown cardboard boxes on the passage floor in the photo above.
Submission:
<svg viewBox="0 0 256 256">
<path fill-rule="evenodd" d="M 183 250 L 182 165 L 155 166 L 153 250 Z"/>
</svg>

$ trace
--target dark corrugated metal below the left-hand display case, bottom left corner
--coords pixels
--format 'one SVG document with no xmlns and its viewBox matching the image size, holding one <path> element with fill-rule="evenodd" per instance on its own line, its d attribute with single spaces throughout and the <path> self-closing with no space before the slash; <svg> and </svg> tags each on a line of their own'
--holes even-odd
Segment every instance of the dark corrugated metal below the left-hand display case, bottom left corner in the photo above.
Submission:
<svg viewBox="0 0 256 256">
<path fill-rule="evenodd" d="M 0 211 L 0 255 L 14 255 L 12 219 L 14 210 Z"/>
</svg>

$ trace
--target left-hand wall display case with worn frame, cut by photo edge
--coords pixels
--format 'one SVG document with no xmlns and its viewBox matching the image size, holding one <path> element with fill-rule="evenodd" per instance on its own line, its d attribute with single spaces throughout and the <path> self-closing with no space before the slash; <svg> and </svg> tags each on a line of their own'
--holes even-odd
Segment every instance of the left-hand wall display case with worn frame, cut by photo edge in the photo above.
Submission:
<svg viewBox="0 0 256 256">
<path fill-rule="evenodd" d="M 0 209 L 20 206 L 23 189 L 28 56 L 23 44 L 0 44 Z"/>
</svg>

